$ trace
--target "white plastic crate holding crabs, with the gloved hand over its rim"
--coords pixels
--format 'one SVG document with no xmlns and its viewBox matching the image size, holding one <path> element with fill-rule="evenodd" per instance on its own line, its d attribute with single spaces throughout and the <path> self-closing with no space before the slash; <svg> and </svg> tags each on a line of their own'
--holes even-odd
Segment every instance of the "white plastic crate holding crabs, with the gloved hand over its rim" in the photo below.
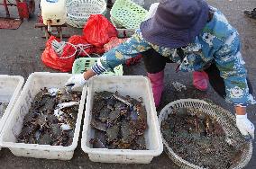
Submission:
<svg viewBox="0 0 256 169">
<path fill-rule="evenodd" d="M 85 100 L 80 101 L 74 138 L 72 145 L 69 147 L 16 143 L 16 137 L 23 128 L 23 118 L 29 112 L 31 103 L 36 93 L 39 93 L 41 88 L 44 87 L 62 88 L 65 86 L 65 83 L 70 76 L 70 74 L 47 72 L 33 73 L 31 76 L 29 76 L 26 84 L 24 84 L 20 97 L 14 106 L 14 110 L 6 121 L 2 136 L 0 138 L 2 147 L 8 147 L 14 156 L 60 160 L 69 160 L 73 157 L 74 150 L 78 146 L 78 137 Z M 86 92 L 86 90 L 84 90 L 84 92 Z"/>
</svg>

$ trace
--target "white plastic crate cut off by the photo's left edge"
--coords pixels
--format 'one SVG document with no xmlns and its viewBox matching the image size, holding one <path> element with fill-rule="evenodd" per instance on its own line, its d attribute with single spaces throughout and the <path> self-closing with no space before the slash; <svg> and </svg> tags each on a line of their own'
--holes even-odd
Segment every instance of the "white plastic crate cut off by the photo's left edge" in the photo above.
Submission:
<svg viewBox="0 0 256 169">
<path fill-rule="evenodd" d="M 24 78 L 22 76 L 0 75 L 0 102 L 9 102 L 2 118 L 0 119 L 0 133 L 22 91 L 23 83 Z"/>
</svg>

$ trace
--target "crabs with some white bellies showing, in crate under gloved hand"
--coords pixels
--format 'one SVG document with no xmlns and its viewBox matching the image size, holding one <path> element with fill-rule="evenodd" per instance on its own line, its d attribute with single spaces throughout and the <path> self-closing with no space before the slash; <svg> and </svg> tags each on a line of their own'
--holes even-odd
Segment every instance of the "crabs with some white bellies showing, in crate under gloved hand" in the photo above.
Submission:
<svg viewBox="0 0 256 169">
<path fill-rule="evenodd" d="M 17 141 L 68 147 L 72 144 L 78 118 L 80 92 L 43 88 L 35 95 L 29 112 L 24 116 L 23 129 Z"/>
</svg>

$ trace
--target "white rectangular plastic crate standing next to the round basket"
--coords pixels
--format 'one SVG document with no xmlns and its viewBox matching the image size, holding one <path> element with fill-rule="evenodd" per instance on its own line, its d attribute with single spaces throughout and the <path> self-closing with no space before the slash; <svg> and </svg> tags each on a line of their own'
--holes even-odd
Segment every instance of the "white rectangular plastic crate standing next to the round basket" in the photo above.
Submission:
<svg viewBox="0 0 256 169">
<path fill-rule="evenodd" d="M 84 88 L 84 90 L 86 90 Z M 130 95 L 135 99 L 142 97 L 147 111 L 148 128 L 144 133 L 148 150 L 132 149 L 107 149 L 92 148 L 89 143 L 94 138 L 95 129 L 90 126 L 93 98 L 95 92 L 118 92 L 122 95 Z M 85 96 L 85 95 L 83 95 Z M 82 100 L 86 98 L 83 97 Z M 163 151 L 160 126 L 157 112 L 153 102 L 151 83 L 144 76 L 95 76 L 90 79 L 87 89 L 87 108 L 82 132 L 81 147 L 89 159 L 94 162 L 124 163 L 124 164 L 149 164 L 154 156 L 159 156 Z"/>
</svg>

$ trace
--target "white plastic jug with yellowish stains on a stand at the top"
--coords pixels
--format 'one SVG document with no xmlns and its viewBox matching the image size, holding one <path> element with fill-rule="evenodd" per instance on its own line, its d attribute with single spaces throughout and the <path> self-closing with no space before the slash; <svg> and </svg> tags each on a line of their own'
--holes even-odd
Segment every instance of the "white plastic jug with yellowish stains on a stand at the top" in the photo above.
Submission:
<svg viewBox="0 0 256 169">
<path fill-rule="evenodd" d="M 67 12 L 65 0 L 41 0 L 41 17 L 43 24 L 61 25 L 66 22 Z"/>
</svg>

